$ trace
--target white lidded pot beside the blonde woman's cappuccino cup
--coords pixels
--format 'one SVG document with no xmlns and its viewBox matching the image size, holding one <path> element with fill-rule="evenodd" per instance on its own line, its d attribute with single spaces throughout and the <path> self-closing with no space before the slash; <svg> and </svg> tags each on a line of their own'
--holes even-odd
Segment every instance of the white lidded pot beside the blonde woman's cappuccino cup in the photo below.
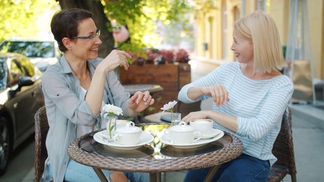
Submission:
<svg viewBox="0 0 324 182">
<path fill-rule="evenodd" d="M 167 129 L 165 135 L 173 144 L 191 144 L 201 138 L 201 133 L 195 131 L 192 126 L 187 125 L 184 121 L 181 121 L 178 125 Z M 194 139 L 197 135 L 197 139 Z"/>
</svg>

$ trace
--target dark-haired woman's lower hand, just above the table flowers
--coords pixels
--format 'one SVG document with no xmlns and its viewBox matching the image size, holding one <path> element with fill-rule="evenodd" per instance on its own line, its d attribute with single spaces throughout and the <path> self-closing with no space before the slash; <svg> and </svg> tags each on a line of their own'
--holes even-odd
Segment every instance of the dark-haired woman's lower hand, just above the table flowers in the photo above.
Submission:
<svg viewBox="0 0 324 182">
<path fill-rule="evenodd" d="M 128 102 L 129 108 L 135 112 L 142 112 L 147 107 L 154 104 L 154 99 L 148 91 L 144 93 L 138 91 L 132 96 Z"/>
</svg>

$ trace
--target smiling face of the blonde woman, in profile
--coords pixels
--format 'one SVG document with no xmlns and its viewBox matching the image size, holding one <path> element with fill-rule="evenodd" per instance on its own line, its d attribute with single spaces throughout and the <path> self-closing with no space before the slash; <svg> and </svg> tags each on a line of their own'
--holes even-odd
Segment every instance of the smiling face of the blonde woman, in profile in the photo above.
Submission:
<svg viewBox="0 0 324 182">
<path fill-rule="evenodd" d="M 240 35 L 235 29 L 233 31 L 233 38 L 231 50 L 234 51 L 237 61 L 239 63 L 253 64 L 254 51 L 252 40 L 248 40 Z"/>
</svg>

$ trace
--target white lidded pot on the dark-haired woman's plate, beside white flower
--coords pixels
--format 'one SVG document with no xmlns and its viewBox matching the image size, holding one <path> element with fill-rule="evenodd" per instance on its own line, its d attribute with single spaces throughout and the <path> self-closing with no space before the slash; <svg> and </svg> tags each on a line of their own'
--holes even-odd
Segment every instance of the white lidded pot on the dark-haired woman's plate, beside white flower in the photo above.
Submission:
<svg viewBox="0 0 324 182">
<path fill-rule="evenodd" d="M 140 136 L 143 130 L 135 126 L 135 123 L 130 121 L 126 126 L 117 126 L 113 135 L 113 141 L 120 145 L 136 145 L 140 141 Z"/>
</svg>

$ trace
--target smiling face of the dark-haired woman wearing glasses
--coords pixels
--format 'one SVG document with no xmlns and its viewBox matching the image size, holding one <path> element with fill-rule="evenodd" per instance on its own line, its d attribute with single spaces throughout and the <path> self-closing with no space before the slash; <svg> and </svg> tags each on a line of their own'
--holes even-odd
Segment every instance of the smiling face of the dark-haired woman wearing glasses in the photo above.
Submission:
<svg viewBox="0 0 324 182">
<path fill-rule="evenodd" d="M 78 25 L 77 36 L 90 36 L 96 33 L 97 27 L 91 18 L 85 19 Z M 94 39 L 71 39 L 71 53 L 79 59 L 95 60 L 98 58 L 98 47 L 102 43 L 96 36 Z"/>
</svg>

